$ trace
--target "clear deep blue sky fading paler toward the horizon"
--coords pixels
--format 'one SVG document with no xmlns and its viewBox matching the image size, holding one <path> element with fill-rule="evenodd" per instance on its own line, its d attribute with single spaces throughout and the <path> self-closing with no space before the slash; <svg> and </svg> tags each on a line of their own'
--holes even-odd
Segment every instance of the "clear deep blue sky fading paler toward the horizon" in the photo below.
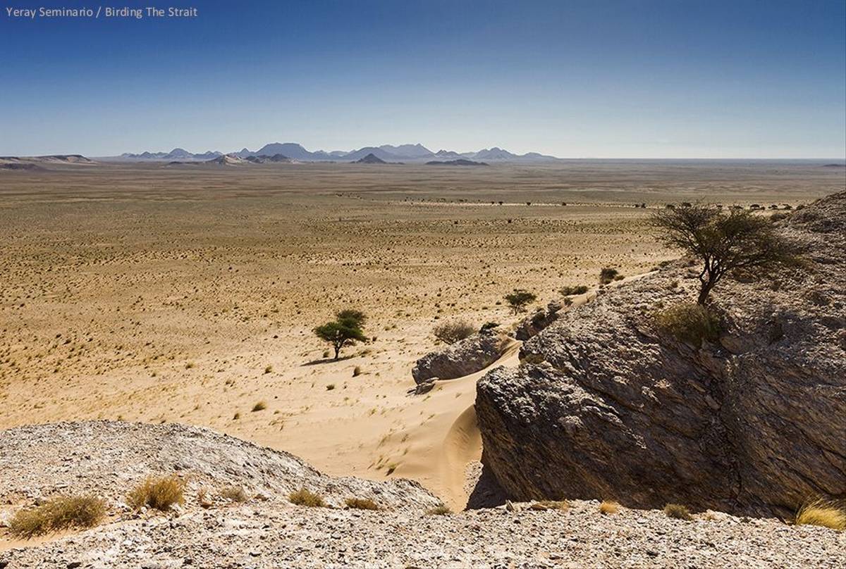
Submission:
<svg viewBox="0 0 846 569">
<path fill-rule="evenodd" d="M 846 155 L 844 0 L 203 0 L 195 19 L 6 14 L 39 5 L 2 5 L 0 155 L 272 141 Z"/>
</svg>

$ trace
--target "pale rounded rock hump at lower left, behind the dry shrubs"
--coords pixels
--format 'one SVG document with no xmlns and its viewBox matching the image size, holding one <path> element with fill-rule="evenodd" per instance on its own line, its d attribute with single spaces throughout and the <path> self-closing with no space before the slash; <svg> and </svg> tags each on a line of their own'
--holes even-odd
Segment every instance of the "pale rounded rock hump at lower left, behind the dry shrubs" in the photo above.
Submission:
<svg viewBox="0 0 846 569">
<path fill-rule="evenodd" d="M 149 475 L 179 473 L 190 488 L 239 485 L 250 495 L 287 497 L 306 488 L 327 503 L 370 498 L 386 507 L 431 507 L 439 501 L 405 479 L 332 478 L 283 451 L 211 429 L 182 424 L 83 421 L 0 431 L 0 501 L 36 501 L 58 493 L 92 493 L 127 511 L 125 495 Z M 194 494 L 188 496 L 189 506 Z"/>
</svg>

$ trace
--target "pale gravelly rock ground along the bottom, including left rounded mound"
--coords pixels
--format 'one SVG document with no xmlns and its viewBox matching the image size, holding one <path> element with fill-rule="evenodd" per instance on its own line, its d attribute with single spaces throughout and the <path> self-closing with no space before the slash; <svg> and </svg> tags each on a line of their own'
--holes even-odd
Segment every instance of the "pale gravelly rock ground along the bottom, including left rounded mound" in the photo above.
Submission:
<svg viewBox="0 0 846 569">
<path fill-rule="evenodd" d="M 148 473 L 179 473 L 186 502 L 172 512 L 130 512 L 125 489 Z M 842 532 L 774 519 L 530 504 L 430 515 L 437 500 L 404 480 L 332 479 L 296 457 L 177 424 L 62 423 L 0 432 L 0 519 L 52 495 L 92 492 L 110 509 L 97 528 L 30 546 L 0 528 L 0 568 L 314 566 L 819 566 L 843 563 Z M 214 500 L 222 485 L 244 502 Z M 294 506 L 309 487 L 332 507 Z M 340 506 L 349 495 L 382 509 Z M 537 507 L 537 506 L 536 506 Z M 3 525 L 0 523 L 0 525 Z"/>
</svg>

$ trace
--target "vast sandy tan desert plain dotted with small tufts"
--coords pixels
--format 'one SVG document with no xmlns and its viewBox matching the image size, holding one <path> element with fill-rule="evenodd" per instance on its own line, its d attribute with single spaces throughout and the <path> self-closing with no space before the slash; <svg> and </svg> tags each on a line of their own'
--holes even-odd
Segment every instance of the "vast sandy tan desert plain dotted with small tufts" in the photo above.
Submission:
<svg viewBox="0 0 846 569">
<path fill-rule="evenodd" d="M 649 224 L 668 203 L 782 209 L 844 185 L 819 161 L 0 171 L 0 429 L 207 426 L 461 509 L 484 371 L 411 394 L 434 326 L 514 326 L 514 288 L 541 306 L 678 257 Z M 312 329 L 346 308 L 370 341 L 332 361 Z"/>
</svg>

